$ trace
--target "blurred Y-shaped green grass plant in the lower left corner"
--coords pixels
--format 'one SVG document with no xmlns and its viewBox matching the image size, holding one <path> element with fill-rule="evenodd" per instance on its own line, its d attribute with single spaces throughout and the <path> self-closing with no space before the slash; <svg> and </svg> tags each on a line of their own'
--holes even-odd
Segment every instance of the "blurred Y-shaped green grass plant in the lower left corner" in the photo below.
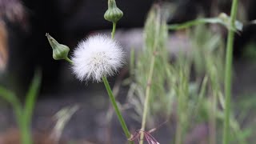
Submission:
<svg viewBox="0 0 256 144">
<path fill-rule="evenodd" d="M 36 70 L 34 78 L 30 84 L 30 88 L 26 94 L 26 101 L 24 106 L 22 102 L 18 100 L 16 94 L 13 91 L 7 90 L 5 87 L 0 86 L 0 97 L 6 102 L 9 102 L 14 109 L 18 128 L 20 130 L 22 144 L 32 144 L 31 134 L 31 119 L 34 110 L 34 104 L 38 96 L 38 91 L 41 84 L 41 71 Z"/>
</svg>

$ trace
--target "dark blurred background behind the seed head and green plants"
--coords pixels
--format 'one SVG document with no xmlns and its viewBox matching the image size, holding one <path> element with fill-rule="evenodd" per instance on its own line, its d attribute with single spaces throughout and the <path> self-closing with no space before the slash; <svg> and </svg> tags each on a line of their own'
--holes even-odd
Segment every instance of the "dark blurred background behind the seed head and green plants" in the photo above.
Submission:
<svg viewBox="0 0 256 144">
<path fill-rule="evenodd" d="M 123 84 L 126 78 L 130 78 L 130 50 L 134 49 L 135 55 L 140 55 L 140 50 L 145 46 L 143 27 L 154 3 L 165 10 L 168 24 L 188 22 L 200 17 L 216 17 L 221 12 L 229 14 L 231 6 L 231 0 L 117 1 L 124 16 L 118 22 L 116 39 L 126 50 L 127 65 L 115 78 L 110 78 L 110 85 L 116 90 L 117 99 L 123 107 L 126 107 L 126 97 L 130 91 L 130 86 Z M 246 107 L 246 116 L 240 122 L 242 125 L 245 122 L 256 122 L 256 26 L 249 24 L 256 19 L 255 6 L 254 0 L 239 2 L 238 20 L 244 23 L 244 28 L 236 34 L 234 42 L 233 97 L 234 106 L 243 102 L 242 106 Z M 63 143 L 65 140 L 88 144 L 126 142 L 117 118 L 112 118 L 113 111 L 103 84 L 79 82 L 74 78 L 69 63 L 54 61 L 45 36 L 49 33 L 58 42 L 69 46 L 72 55 L 77 43 L 88 35 L 110 34 L 112 24 L 103 18 L 106 10 L 106 0 L 0 0 L 0 84 L 13 90 L 23 102 L 34 71 L 38 67 L 42 70 L 42 86 L 32 121 L 34 134 L 41 134 L 42 139 L 54 129 L 54 114 L 66 106 L 79 106 L 62 131 Z M 219 30 L 225 45 L 226 30 L 214 26 L 210 29 Z M 170 61 L 181 51 L 192 53 L 193 36 L 186 30 L 169 30 L 168 33 L 166 48 L 168 54 L 174 55 Z M 191 79 L 193 76 L 191 73 Z M 15 139 L 17 126 L 12 108 L 3 100 L 0 103 L 0 139 Z M 234 117 L 238 115 L 236 112 L 239 110 L 234 110 Z M 133 114 L 130 108 L 123 111 L 129 129 L 140 129 L 140 122 L 130 114 Z M 166 120 L 170 123 L 172 121 L 166 117 L 156 118 L 150 126 L 158 126 Z M 186 134 L 184 143 L 208 143 L 200 138 L 200 135 L 209 133 L 208 128 L 206 122 L 194 126 Z M 155 132 L 155 138 L 160 143 L 170 143 L 174 139 L 170 136 L 173 133 L 174 125 L 166 124 Z M 255 136 L 255 132 L 251 132 L 252 135 Z M 255 138 L 248 139 L 247 143 L 256 142 Z"/>
</svg>

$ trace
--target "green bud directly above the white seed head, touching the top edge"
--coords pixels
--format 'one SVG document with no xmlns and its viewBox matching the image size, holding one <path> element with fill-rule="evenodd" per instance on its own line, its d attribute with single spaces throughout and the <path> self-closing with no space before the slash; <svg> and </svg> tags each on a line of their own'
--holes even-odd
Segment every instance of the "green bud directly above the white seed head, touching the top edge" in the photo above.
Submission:
<svg viewBox="0 0 256 144">
<path fill-rule="evenodd" d="M 122 10 L 118 8 L 115 0 L 108 0 L 108 9 L 104 14 L 104 18 L 110 22 L 118 22 L 122 15 Z"/>
</svg>

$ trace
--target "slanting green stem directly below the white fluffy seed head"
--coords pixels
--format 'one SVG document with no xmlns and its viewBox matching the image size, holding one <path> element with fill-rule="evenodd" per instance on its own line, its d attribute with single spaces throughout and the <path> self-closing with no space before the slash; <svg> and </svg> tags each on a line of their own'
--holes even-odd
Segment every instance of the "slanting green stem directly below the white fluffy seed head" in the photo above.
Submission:
<svg viewBox="0 0 256 144">
<path fill-rule="evenodd" d="M 122 130 L 126 134 L 126 138 L 130 138 L 130 132 L 126 126 L 125 120 L 122 118 L 122 114 L 120 113 L 120 110 L 118 109 L 117 102 L 115 102 L 114 94 L 110 88 L 110 84 L 107 81 L 105 76 L 102 77 L 102 80 L 104 82 L 104 85 L 106 86 L 107 94 L 109 94 L 109 96 L 110 96 L 110 102 L 111 102 L 112 106 L 114 107 L 115 113 L 118 115 L 118 120 L 122 126 Z M 129 143 L 132 144 L 133 142 L 129 142 Z"/>
</svg>

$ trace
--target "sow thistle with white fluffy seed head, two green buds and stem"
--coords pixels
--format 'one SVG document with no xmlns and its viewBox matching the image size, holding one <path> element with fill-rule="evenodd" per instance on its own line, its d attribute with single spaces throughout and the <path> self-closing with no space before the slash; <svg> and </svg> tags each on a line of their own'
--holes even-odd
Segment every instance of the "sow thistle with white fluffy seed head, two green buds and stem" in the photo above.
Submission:
<svg viewBox="0 0 256 144">
<path fill-rule="evenodd" d="M 122 18 L 122 10 L 118 9 L 114 0 L 108 1 L 108 10 L 104 14 L 107 21 L 113 22 L 113 30 L 111 38 L 106 35 L 97 34 L 90 36 L 74 49 L 74 55 L 70 59 L 68 53 L 70 51 L 68 46 L 59 44 L 50 34 L 46 34 L 50 46 L 53 49 L 53 58 L 55 60 L 64 59 L 72 65 L 73 73 L 80 81 L 94 81 L 104 82 L 107 93 L 110 97 L 118 120 L 122 126 L 122 130 L 126 134 L 126 138 L 130 138 L 130 132 L 126 126 L 126 122 L 122 118 L 122 114 L 118 109 L 114 94 L 107 81 L 108 76 L 113 76 L 122 67 L 124 62 L 124 52 L 122 47 L 114 40 L 116 24 Z M 133 142 L 129 141 L 130 144 Z"/>
</svg>

